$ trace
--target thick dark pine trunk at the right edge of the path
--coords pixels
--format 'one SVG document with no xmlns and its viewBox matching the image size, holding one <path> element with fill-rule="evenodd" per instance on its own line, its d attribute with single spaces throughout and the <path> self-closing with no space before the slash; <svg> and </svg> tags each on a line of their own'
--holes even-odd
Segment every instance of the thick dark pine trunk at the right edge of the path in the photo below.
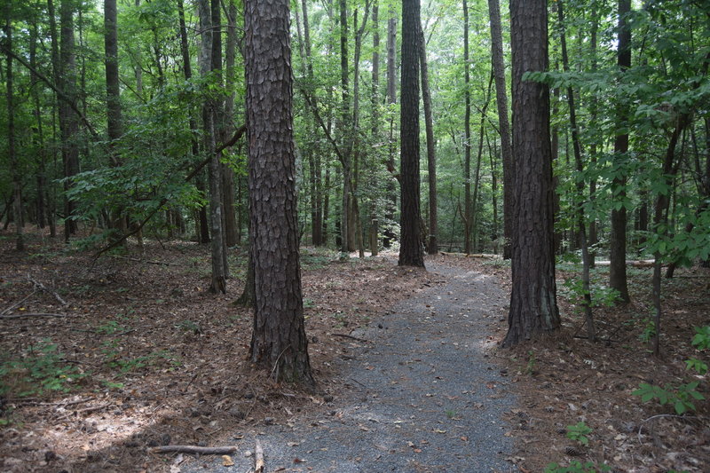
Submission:
<svg viewBox="0 0 710 473">
<path fill-rule="evenodd" d="M 523 80 L 525 72 L 548 69 L 547 4 L 545 0 L 511 0 L 510 19 L 516 195 L 513 280 L 504 347 L 560 325 L 553 254 L 549 90 L 545 84 Z"/>
</svg>

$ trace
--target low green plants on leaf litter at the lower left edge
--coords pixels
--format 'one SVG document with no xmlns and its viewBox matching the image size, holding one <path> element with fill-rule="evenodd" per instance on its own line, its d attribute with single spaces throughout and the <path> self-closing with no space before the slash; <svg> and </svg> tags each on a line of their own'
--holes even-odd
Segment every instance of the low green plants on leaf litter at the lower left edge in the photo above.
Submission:
<svg viewBox="0 0 710 473">
<path fill-rule="evenodd" d="M 0 395 L 12 391 L 13 396 L 23 398 L 51 391 L 68 392 L 72 383 L 86 375 L 67 363 L 56 343 L 45 339 L 30 346 L 22 359 L 7 359 L 0 364 Z"/>
</svg>

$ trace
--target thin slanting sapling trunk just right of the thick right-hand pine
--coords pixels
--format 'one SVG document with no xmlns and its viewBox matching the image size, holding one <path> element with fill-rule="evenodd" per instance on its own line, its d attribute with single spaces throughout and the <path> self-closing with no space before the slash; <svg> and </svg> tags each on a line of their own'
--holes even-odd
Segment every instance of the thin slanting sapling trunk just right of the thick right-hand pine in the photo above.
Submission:
<svg viewBox="0 0 710 473">
<path fill-rule="evenodd" d="M 569 72 L 570 61 L 567 56 L 567 35 L 564 24 L 564 3 L 557 0 L 557 19 L 560 28 L 560 47 L 562 48 L 562 64 L 564 72 Z M 574 105 L 574 91 L 572 86 L 567 87 L 567 105 L 570 112 L 570 126 L 572 127 L 572 149 L 574 151 L 574 162 L 578 174 L 582 175 L 584 163 L 582 162 L 582 145 L 580 142 L 580 130 L 577 128 L 577 109 Z M 589 342 L 596 342 L 596 329 L 594 325 L 594 315 L 592 314 L 592 292 L 589 281 L 589 248 L 587 243 L 587 226 L 584 222 L 584 181 L 576 179 L 577 203 L 574 209 L 577 219 L 577 231 L 580 235 L 580 247 L 582 250 L 582 292 L 584 298 L 584 319 L 587 324 L 587 339 Z M 573 201 L 575 201 L 573 200 Z"/>
</svg>

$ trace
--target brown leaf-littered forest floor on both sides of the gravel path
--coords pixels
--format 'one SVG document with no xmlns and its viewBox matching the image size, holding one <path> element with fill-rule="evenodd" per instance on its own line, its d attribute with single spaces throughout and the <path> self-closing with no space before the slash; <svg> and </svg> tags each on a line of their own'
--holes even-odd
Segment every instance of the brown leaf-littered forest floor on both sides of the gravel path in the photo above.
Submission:
<svg viewBox="0 0 710 473">
<path fill-rule="evenodd" d="M 306 332 L 319 382 L 318 390 L 308 393 L 275 384 L 248 363 L 250 312 L 233 304 L 246 266 L 238 252 L 228 293 L 216 296 L 206 291 L 208 248 L 193 243 L 148 241 L 146 256 L 131 246 L 98 261 L 89 251 L 40 234 L 28 235 L 28 252 L 12 248 L 12 235 L 0 233 L 3 471 L 185 471 L 209 457 L 196 461 L 149 448 L 238 445 L 233 456 L 243 455 L 254 451 L 250 433 L 264 426 L 339 416 L 344 390 L 362 382 L 343 378 L 343 370 L 376 348 L 343 335 L 386 337 L 395 308 L 436 297 L 445 288 L 446 268 L 485 274 L 505 295 L 474 338 L 491 345 L 485 370 L 502 378 L 515 399 L 502 408 L 500 440 L 491 439 L 501 445 L 514 439 L 509 469 L 541 471 L 551 461 L 591 461 L 615 471 L 710 470 L 710 402 L 695 401 L 697 412 L 675 416 L 672 406 L 642 403 L 631 394 L 642 382 L 671 390 L 698 381 L 697 390 L 710 398 L 707 376 L 685 369 L 686 359 L 708 362 L 707 353 L 690 344 L 693 327 L 710 323 L 707 269 L 678 271 L 675 279 L 663 281 L 662 359 L 654 359 L 644 340 L 651 317 L 650 268 L 629 268 L 632 304 L 596 309 L 604 341 L 592 344 L 578 338 L 582 319 L 565 291 L 564 280 L 579 274 L 563 265 L 557 274 L 562 330 L 538 343 L 501 350 L 495 343 L 507 329 L 505 263 L 434 256 L 427 264 L 435 269 L 422 272 L 397 267 L 391 256 L 342 262 L 336 253 L 302 248 Z M 596 278 L 604 280 L 606 271 L 599 267 Z M 467 313 L 479 299 L 500 298 L 485 287 L 474 292 L 461 296 L 460 307 L 446 315 Z M 431 347 L 420 359 L 433 369 L 446 361 L 438 360 L 440 353 Z M 455 427 L 458 412 L 450 411 L 442 422 Z M 369 423 L 377 419 L 363 427 L 370 429 Z M 426 451 L 427 442 L 454 431 L 444 425 L 430 426 L 432 438 L 407 445 L 409 453 Z M 581 427 L 567 429 L 574 425 Z M 476 445 L 464 437 L 441 448 L 466 454 Z M 319 471 L 303 460 L 295 457 L 280 468 Z"/>
</svg>

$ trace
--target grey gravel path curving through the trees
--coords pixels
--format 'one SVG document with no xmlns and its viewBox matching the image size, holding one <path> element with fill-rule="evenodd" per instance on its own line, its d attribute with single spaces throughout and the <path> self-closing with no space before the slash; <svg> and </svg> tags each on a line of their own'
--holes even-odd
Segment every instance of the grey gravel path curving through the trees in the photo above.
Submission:
<svg viewBox="0 0 710 473">
<path fill-rule="evenodd" d="M 244 452 L 256 439 L 268 472 L 513 471 L 501 415 L 515 398 L 486 353 L 487 325 L 504 315 L 506 296 L 493 277 L 427 264 L 445 284 L 351 334 L 371 343 L 343 339 L 356 356 L 338 367 L 346 390 L 329 411 L 241 432 L 233 467 L 202 458 L 182 471 L 250 471 Z"/>
</svg>

